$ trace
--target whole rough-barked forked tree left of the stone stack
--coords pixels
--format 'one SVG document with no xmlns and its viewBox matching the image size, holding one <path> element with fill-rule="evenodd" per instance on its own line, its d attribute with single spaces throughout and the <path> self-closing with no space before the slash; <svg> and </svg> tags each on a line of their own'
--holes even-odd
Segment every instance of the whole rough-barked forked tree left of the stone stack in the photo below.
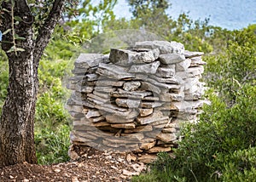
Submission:
<svg viewBox="0 0 256 182">
<path fill-rule="evenodd" d="M 37 163 L 34 145 L 34 115 L 38 94 L 38 64 L 55 25 L 61 17 L 65 0 L 55 0 L 39 33 L 33 32 L 34 18 L 26 0 L 15 0 L 14 13 L 22 20 L 15 33 L 25 40 L 16 40 L 25 51 L 7 53 L 9 58 L 9 88 L 0 119 L 0 168 L 15 163 Z M 3 1 L 2 9 L 11 11 L 11 1 Z M 12 27 L 12 16 L 4 11 L 0 30 Z M 37 37 L 34 39 L 34 37 Z M 2 48 L 7 52 L 13 43 L 10 31 L 3 37 Z"/>
</svg>

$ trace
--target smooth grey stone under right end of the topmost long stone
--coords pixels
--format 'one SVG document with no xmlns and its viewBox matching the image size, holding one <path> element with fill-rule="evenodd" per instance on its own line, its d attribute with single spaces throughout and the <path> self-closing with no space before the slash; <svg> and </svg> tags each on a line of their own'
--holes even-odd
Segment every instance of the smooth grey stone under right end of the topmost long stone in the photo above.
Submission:
<svg viewBox="0 0 256 182">
<path fill-rule="evenodd" d="M 164 65 L 172 65 L 176 63 L 183 62 L 185 60 L 185 56 L 183 54 L 160 54 L 159 60 L 161 64 Z"/>
</svg>

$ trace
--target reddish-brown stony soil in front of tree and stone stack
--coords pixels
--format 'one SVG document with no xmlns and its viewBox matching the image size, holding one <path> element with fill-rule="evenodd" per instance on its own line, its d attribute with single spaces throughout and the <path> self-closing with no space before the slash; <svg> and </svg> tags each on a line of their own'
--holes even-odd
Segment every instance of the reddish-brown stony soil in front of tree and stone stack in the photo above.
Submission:
<svg viewBox="0 0 256 182">
<path fill-rule="evenodd" d="M 49 166 L 23 163 L 0 168 L 0 181 L 131 181 L 133 175 L 146 170 L 146 165 L 136 162 L 133 154 L 114 154 L 90 147 L 78 153 L 81 157 L 73 162 Z"/>
</svg>

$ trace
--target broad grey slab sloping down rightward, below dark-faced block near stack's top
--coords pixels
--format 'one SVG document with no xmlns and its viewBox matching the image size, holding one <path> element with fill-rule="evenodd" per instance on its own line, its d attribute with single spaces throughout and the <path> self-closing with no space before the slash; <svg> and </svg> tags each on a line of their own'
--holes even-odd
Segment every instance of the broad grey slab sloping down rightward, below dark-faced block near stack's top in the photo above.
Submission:
<svg viewBox="0 0 256 182">
<path fill-rule="evenodd" d="M 122 67 L 119 65 L 104 64 L 104 63 L 101 63 L 99 65 L 96 73 L 104 77 L 114 78 L 118 80 L 135 77 L 135 75 L 132 73 L 129 73 L 127 68 L 125 67 Z"/>
</svg>

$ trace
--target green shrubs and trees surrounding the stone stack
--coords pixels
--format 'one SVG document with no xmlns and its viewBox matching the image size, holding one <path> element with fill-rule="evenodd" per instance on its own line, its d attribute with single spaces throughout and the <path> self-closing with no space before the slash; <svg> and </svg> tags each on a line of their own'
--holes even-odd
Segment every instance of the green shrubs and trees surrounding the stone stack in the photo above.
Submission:
<svg viewBox="0 0 256 182">
<path fill-rule="evenodd" d="M 130 0 L 131 20 L 116 19 L 113 0 L 98 6 L 84 1 L 68 11 L 67 21 L 56 27 L 39 66 L 39 93 L 35 122 L 38 162 L 67 162 L 71 119 L 65 110 L 65 88 L 73 60 L 86 52 L 84 44 L 100 33 L 144 29 L 186 49 L 205 52 L 205 97 L 200 122 L 183 127 L 183 140 L 152 164 L 151 171 L 134 181 L 256 181 L 256 25 L 228 31 L 206 20 L 168 16 L 167 1 Z M 73 14 L 81 15 L 80 19 Z M 90 14 L 90 16 L 89 16 Z M 8 60 L 0 52 L 0 111 L 7 94 Z"/>
</svg>

